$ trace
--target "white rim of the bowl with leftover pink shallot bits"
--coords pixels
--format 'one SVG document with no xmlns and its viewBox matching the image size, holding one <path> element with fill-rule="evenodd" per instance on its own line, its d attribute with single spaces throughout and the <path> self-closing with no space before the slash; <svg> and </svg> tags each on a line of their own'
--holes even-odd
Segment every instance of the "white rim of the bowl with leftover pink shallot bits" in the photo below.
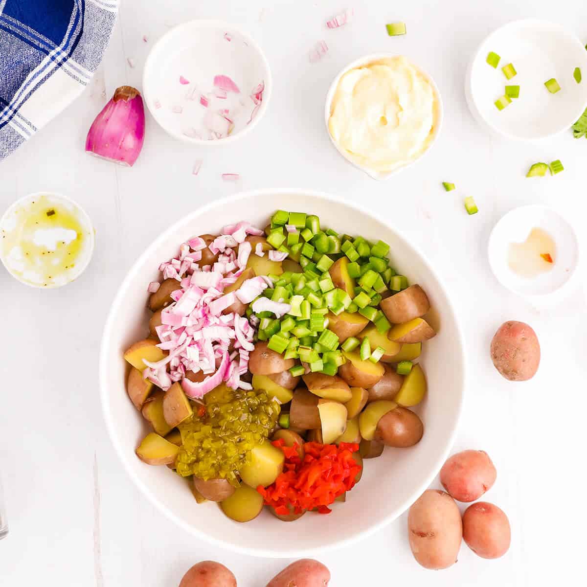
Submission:
<svg viewBox="0 0 587 587">
<path fill-rule="evenodd" d="M 261 61 L 262 65 L 265 69 L 265 72 L 266 72 L 266 79 L 264 80 L 265 87 L 263 90 L 263 100 L 261 101 L 261 107 L 259 108 L 255 118 L 251 121 L 250 124 L 247 124 L 247 126 L 243 127 L 241 130 L 237 131 L 234 134 L 231 134 L 231 136 L 229 136 L 229 137 L 225 137 L 224 139 L 218 139 L 215 141 L 208 141 L 208 140 L 204 140 L 204 139 L 195 139 L 193 137 L 188 137 L 185 134 L 176 133 L 175 131 L 169 129 L 167 126 L 164 126 L 160 122 L 160 120 L 158 119 L 158 117 L 153 112 L 153 109 L 150 106 L 150 99 L 149 99 L 150 83 L 148 81 L 148 78 L 150 75 L 149 72 L 153 68 L 151 62 L 154 62 L 154 60 L 157 58 L 157 53 L 160 52 L 161 46 L 163 46 L 163 44 L 164 44 L 163 42 L 166 41 L 168 37 L 180 34 L 183 31 L 183 29 L 188 29 L 193 26 L 196 26 L 198 28 L 206 28 L 206 29 L 217 28 L 222 31 L 228 30 L 228 31 L 234 31 L 235 33 L 238 33 L 238 35 L 241 35 L 244 39 L 246 39 L 247 43 L 249 45 L 251 45 L 252 48 L 254 48 L 258 52 L 260 61 Z M 189 143 L 189 144 L 193 144 L 193 145 L 206 145 L 206 146 L 218 146 L 218 145 L 227 145 L 230 143 L 234 143 L 235 140 L 240 139 L 241 137 L 244 137 L 245 134 L 248 134 L 252 129 L 254 129 L 255 126 L 257 126 L 257 124 L 259 123 L 259 121 L 262 119 L 262 117 L 264 116 L 264 114 L 268 108 L 269 99 L 271 99 L 271 93 L 272 93 L 272 89 L 273 89 L 273 77 L 271 75 L 271 68 L 269 67 L 269 62 L 267 60 L 265 52 L 263 49 L 261 49 L 261 45 L 259 45 L 259 43 L 257 41 L 255 41 L 255 39 L 252 38 L 252 36 L 249 35 L 249 33 L 245 32 L 239 26 L 233 25 L 227 21 L 214 20 L 214 19 L 199 19 L 199 18 L 195 18 L 195 19 L 193 19 L 191 21 L 187 21 L 187 22 L 182 22 L 179 25 L 174 26 L 173 29 L 170 29 L 170 31 L 167 31 L 163 36 L 161 36 L 161 38 L 157 39 L 157 42 L 153 45 L 153 47 L 151 48 L 151 50 L 149 52 L 149 55 L 147 55 L 147 59 L 145 60 L 145 65 L 143 68 L 142 83 L 143 83 L 143 95 L 145 98 L 145 102 L 147 103 L 147 109 L 149 109 L 149 112 L 150 112 L 151 116 L 153 117 L 153 119 L 155 120 L 155 122 L 164 131 L 166 131 L 167 134 L 172 136 L 174 139 L 178 139 L 180 141 L 183 141 L 184 143 Z"/>
</svg>

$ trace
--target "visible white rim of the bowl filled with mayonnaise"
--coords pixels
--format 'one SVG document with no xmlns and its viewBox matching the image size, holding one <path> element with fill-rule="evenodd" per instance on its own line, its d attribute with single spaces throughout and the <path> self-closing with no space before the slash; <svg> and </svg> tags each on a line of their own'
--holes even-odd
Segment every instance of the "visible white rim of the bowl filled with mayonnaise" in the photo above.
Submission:
<svg viewBox="0 0 587 587">
<path fill-rule="evenodd" d="M 434 95 L 436 96 L 437 124 L 436 124 L 436 127 L 434 127 L 433 136 L 432 136 L 432 139 L 430 141 L 428 148 L 420 155 L 420 157 L 416 158 L 414 161 L 410 161 L 410 163 L 403 165 L 401 167 L 397 167 L 393 171 L 388 171 L 387 173 L 374 171 L 374 170 L 370 169 L 369 167 L 355 163 L 355 161 L 353 161 L 352 159 L 350 159 L 347 156 L 347 154 L 345 153 L 345 151 L 343 149 L 340 149 L 340 146 L 332 138 L 332 135 L 330 134 L 330 130 L 328 128 L 328 120 L 330 119 L 330 107 L 332 106 L 332 99 L 336 93 L 336 89 L 338 87 L 338 83 L 340 81 L 340 78 L 343 75 L 345 75 L 346 72 L 350 71 L 351 69 L 356 69 L 356 68 L 363 67 L 365 65 L 369 65 L 369 63 L 373 63 L 373 62 L 378 61 L 380 59 L 389 59 L 389 58 L 394 58 L 394 57 L 399 57 L 399 55 L 397 55 L 396 53 L 373 53 L 372 55 L 365 55 L 364 57 L 360 57 L 359 59 L 355 59 L 355 61 L 353 61 L 352 63 L 349 63 L 349 65 L 345 66 L 342 70 L 340 70 L 338 75 L 336 75 L 335 79 L 330 84 L 330 87 L 328 89 L 328 93 L 326 93 L 326 103 L 324 106 L 324 120 L 325 120 L 325 124 L 326 124 L 326 132 L 328 133 L 328 136 L 330 137 L 330 141 L 335 146 L 336 150 L 345 158 L 346 161 L 348 161 L 350 164 L 352 164 L 353 167 L 356 167 L 357 169 L 365 171 L 365 173 L 369 177 L 372 177 L 373 179 L 376 179 L 376 180 L 386 180 L 387 178 L 392 177 L 396 173 L 400 173 L 400 171 L 403 171 L 404 169 L 407 169 L 408 167 L 413 166 L 415 163 L 417 163 L 417 161 L 420 161 L 421 158 L 424 157 L 424 155 L 426 155 L 426 153 L 428 153 L 430 151 L 433 144 L 436 142 L 436 139 L 438 138 L 438 134 L 440 134 L 440 129 L 442 127 L 442 122 L 443 122 L 443 112 L 444 112 L 443 111 L 443 103 L 442 103 L 442 98 L 440 96 L 440 92 L 438 91 L 438 86 L 436 85 L 436 82 L 434 82 L 434 80 L 429 75 L 429 73 L 425 72 L 418 65 L 416 65 L 416 63 L 414 63 L 413 61 L 410 60 L 411 65 L 413 65 L 415 68 L 417 68 L 419 70 L 419 72 L 428 80 L 428 82 L 430 83 L 430 85 L 432 86 L 432 88 L 434 90 Z"/>
</svg>

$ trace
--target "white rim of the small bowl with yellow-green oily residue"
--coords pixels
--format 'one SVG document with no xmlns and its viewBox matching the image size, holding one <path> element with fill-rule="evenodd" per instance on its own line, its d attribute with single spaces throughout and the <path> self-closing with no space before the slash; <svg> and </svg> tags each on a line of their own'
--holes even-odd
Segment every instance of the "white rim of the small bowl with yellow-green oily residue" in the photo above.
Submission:
<svg viewBox="0 0 587 587">
<path fill-rule="evenodd" d="M 22 198 L 16 200 L 15 203 L 12 204 L 11 207 L 6 210 L 6 212 L 4 212 L 4 215 L 0 219 L 0 231 L 12 230 L 12 226 L 16 221 L 15 214 L 19 210 L 22 210 L 22 208 L 25 208 L 28 204 L 34 203 L 35 200 L 38 200 L 41 197 L 47 198 L 48 204 L 60 205 L 72 212 L 84 232 L 85 245 L 79 253 L 79 257 L 77 258 L 73 270 L 70 269 L 65 275 L 63 275 L 62 279 L 53 279 L 53 281 L 50 281 L 45 285 L 41 284 L 40 282 L 35 283 L 32 281 L 32 279 L 26 279 L 23 275 L 19 274 L 19 272 L 15 270 L 14 266 L 12 266 L 13 264 L 4 254 L 4 249 L 2 247 L 0 247 L 0 260 L 5 266 L 6 271 L 8 271 L 9 274 L 11 274 L 15 279 L 18 279 L 18 281 L 20 281 L 22 284 L 39 289 L 55 289 L 60 288 L 63 285 L 70 284 L 85 271 L 86 267 L 90 263 L 90 260 L 92 259 L 94 252 L 95 232 L 90 217 L 79 204 L 73 200 L 70 200 L 70 198 L 65 197 L 65 195 L 45 191 L 39 191 L 34 194 L 25 195 Z"/>
</svg>

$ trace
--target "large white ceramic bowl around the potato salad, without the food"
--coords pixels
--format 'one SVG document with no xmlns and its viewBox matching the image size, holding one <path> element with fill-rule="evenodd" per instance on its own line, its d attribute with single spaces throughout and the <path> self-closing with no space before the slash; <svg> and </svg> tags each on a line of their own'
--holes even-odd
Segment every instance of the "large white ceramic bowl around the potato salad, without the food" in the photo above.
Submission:
<svg viewBox="0 0 587 587">
<path fill-rule="evenodd" d="M 421 357 L 429 393 L 418 407 L 424 437 L 413 448 L 386 448 L 365 461 L 365 473 L 345 504 L 328 516 L 307 514 L 284 525 L 267 511 L 247 524 L 225 517 L 215 504 L 197 505 L 185 481 L 167 467 L 151 467 L 134 454 L 148 429 L 125 391 L 123 351 L 146 335 L 147 285 L 158 279 L 158 265 L 173 257 L 193 235 L 216 232 L 246 219 L 265 226 L 276 209 L 317 214 L 337 231 L 382 239 L 391 246 L 393 265 L 426 289 L 434 308 L 436 338 Z M 461 413 L 465 385 L 464 343 L 456 309 L 443 279 L 395 228 L 367 214 L 365 207 L 305 190 L 251 191 L 214 201 L 168 228 L 130 269 L 114 299 L 104 328 L 100 388 L 107 429 L 127 473 L 156 507 L 186 531 L 212 544 L 244 554 L 297 558 L 348 545 L 389 524 L 419 497 L 447 457 Z"/>
</svg>

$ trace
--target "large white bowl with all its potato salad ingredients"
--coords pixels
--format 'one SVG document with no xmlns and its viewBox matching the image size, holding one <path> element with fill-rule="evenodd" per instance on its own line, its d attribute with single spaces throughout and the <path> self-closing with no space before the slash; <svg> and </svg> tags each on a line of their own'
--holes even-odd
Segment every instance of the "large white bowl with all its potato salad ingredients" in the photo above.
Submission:
<svg viewBox="0 0 587 587">
<path fill-rule="evenodd" d="M 333 195 L 268 189 L 213 201 L 144 251 L 99 370 L 144 497 L 211 544 L 298 558 L 372 534 L 429 486 L 466 360 L 444 280 L 396 227 Z"/>
</svg>

